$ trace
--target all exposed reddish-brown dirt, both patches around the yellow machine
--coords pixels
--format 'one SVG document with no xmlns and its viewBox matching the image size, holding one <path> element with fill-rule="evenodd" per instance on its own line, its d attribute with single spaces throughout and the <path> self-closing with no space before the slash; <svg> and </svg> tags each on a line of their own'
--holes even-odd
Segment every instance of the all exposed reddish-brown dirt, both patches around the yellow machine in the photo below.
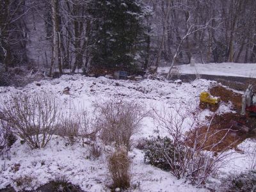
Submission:
<svg viewBox="0 0 256 192">
<path fill-rule="evenodd" d="M 205 150 L 220 152 L 230 148 L 237 149 L 237 145 L 242 143 L 246 138 L 256 137 L 256 118 L 246 118 L 241 116 L 242 95 L 223 86 L 214 86 L 209 92 L 214 97 L 220 97 L 221 102 L 231 102 L 236 113 L 224 113 L 215 115 L 212 119 L 211 126 L 201 127 L 197 135 L 201 135 L 198 145 L 204 145 Z M 211 116 L 207 117 L 211 120 Z M 195 138 L 196 132 L 191 132 L 191 140 Z M 205 141 L 205 138 L 207 140 Z M 214 145 L 214 143 L 218 143 Z"/>
</svg>

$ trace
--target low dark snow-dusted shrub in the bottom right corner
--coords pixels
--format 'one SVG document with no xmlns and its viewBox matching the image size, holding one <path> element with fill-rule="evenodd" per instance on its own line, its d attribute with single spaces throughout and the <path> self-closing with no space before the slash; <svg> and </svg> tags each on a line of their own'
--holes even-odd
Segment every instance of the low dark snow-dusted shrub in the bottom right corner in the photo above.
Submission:
<svg viewBox="0 0 256 192">
<path fill-rule="evenodd" d="M 250 170 L 239 175 L 230 174 L 223 179 L 221 191 L 256 191 L 256 170 Z"/>
</svg>

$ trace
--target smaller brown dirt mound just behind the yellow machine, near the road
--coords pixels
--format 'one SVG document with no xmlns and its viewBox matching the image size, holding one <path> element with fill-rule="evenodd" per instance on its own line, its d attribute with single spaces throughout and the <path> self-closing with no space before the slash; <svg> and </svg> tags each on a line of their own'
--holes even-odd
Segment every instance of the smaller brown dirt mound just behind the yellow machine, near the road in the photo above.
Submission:
<svg viewBox="0 0 256 192">
<path fill-rule="evenodd" d="M 210 89 L 210 93 L 214 97 L 220 97 L 223 102 L 232 102 L 234 109 L 239 112 L 241 110 L 242 95 L 228 90 L 223 86 L 214 86 Z"/>
</svg>

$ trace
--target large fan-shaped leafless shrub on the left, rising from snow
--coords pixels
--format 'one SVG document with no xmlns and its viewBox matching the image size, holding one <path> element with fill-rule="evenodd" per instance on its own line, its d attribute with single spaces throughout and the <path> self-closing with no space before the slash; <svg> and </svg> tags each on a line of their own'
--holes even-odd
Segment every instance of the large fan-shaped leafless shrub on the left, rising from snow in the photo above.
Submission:
<svg viewBox="0 0 256 192">
<path fill-rule="evenodd" d="M 3 104 L 4 120 L 31 148 L 45 147 L 56 131 L 60 101 L 47 93 L 12 95 Z"/>
</svg>

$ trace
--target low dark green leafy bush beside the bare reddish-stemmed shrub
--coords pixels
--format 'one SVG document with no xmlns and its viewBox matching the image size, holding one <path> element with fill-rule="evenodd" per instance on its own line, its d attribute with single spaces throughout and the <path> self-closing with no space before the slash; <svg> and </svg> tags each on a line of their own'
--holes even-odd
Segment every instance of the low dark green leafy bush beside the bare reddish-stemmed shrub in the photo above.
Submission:
<svg viewBox="0 0 256 192">
<path fill-rule="evenodd" d="M 184 148 L 173 145 L 168 137 L 147 140 L 143 151 L 144 161 L 166 171 L 178 170 L 179 162 L 184 158 Z"/>
</svg>

